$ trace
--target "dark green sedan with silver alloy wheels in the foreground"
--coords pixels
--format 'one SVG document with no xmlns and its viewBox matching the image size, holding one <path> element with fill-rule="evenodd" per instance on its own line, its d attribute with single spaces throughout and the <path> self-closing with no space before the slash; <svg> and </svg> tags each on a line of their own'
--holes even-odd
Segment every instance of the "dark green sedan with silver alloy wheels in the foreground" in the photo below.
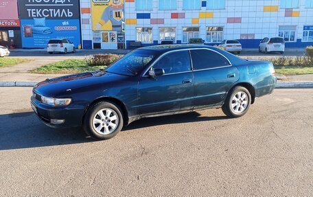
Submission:
<svg viewBox="0 0 313 197">
<path fill-rule="evenodd" d="M 241 117 L 276 82 L 271 62 L 216 47 L 159 45 L 136 49 L 104 71 L 40 82 L 31 104 L 48 126 L 82 126 L 91 137 L 110 139 L 144 117 L 219 107 Z"/>
</svg>

